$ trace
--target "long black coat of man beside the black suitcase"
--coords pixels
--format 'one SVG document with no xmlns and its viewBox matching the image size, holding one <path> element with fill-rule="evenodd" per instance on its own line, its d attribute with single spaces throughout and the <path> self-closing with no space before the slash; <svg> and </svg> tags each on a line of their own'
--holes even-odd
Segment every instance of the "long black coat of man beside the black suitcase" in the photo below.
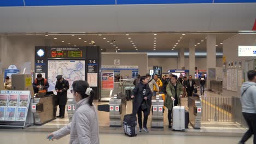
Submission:
<svg viewBox="0 0 256 144">
<path fill-rule="evenodd" d="M 133 99 L 133 104 L 132 104 L 132 113 L 137 114 L 139 107 L 141 106 L 144 97 L 143 97 L 143 89 L 146 89 L 146 97 L 148 98 L 146 100 L 147 102 L 147 107 L 148 107 L 148 115 L 150 113 L 150 108 L 151 108 L 151 100 L 152 100 L 152 95 L 153 93 L 151 92 L 148 84 L 144 85 L 143 82 L 139 83 L 138 85 L 135 86 L 135 88 L 132 90 L 131 95 L 134 95 Z"/>
</svg>

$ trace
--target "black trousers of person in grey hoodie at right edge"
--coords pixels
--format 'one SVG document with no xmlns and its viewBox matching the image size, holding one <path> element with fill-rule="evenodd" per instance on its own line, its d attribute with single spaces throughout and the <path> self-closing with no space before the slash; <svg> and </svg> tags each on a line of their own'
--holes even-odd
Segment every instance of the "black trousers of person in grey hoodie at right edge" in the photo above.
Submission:
<svg viewBox="0 0 256 144">
<path fill-rule="evenodd" d="M 256 144 L 256 113 L 243 112 L 243 117 L 245 117 L 249 130 L 246 131 L 241 142 L 246 142 L 253 135 L 253 143 Z"/>
</svg>

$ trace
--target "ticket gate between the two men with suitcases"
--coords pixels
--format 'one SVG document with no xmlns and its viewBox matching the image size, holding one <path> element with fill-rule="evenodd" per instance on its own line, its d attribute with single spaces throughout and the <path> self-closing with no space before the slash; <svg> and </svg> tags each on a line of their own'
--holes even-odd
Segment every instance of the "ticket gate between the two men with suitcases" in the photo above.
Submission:
<svg viewBox="0 0 256 144">
<path fill-rule="evenodd" d="M 153 128 L 164 128 L 164 100 L 160 95 L 152 100 L 152 123 Z"/>
</svg>

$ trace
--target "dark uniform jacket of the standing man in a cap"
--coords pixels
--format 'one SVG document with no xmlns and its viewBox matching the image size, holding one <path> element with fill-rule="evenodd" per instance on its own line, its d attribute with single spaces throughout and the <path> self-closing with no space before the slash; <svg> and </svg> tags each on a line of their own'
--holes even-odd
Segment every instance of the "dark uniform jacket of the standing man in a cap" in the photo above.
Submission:
<svg viewBox="0 0 256 144">
<path fill-rule="evenodd" d="M 67 80 L 62 82 L 57 81 L 55 85 L 55 90 L 62 90 L 62 92 L 57 93 L 57 99 L 59 105 L 66 105 L 67 104 L 67 90 L 69 89 L 69 83 Z"/>
</svg>

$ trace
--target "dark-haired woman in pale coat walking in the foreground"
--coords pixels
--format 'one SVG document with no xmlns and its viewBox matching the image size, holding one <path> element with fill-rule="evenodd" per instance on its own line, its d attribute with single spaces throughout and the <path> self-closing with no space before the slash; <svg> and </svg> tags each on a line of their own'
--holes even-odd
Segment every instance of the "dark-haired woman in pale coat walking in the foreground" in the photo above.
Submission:
<svg viewBox="0 0 256 144">
<path fill-rule="evenodd" d="M 94 91 L 89 87 L 88 82 L 82 80 L 74 81 L 72 86 L 71 92 L 77 102 L 72 122 L 48 135 L 47 139 L 58 140 L 70 134 L 69 143 L 98 144 L 100 143 L 98 136 L 98 114 L 95 106 L 92 105 Z"/>
</svg>

